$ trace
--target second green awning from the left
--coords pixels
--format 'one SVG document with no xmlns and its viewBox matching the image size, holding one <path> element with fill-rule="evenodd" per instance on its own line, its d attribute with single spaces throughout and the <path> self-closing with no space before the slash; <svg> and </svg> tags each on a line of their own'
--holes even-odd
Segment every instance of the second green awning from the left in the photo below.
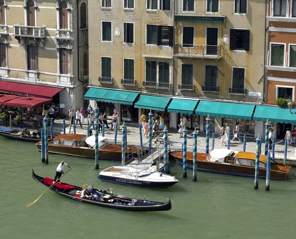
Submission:
<svg viewBox="0 0 296 239">
<path fill-rule="evenodd" d="M 170 100 L 170 97 L 140 95 L 139 101 L 134 106 L 143 109 L 165 110 Z"/>
</svg>

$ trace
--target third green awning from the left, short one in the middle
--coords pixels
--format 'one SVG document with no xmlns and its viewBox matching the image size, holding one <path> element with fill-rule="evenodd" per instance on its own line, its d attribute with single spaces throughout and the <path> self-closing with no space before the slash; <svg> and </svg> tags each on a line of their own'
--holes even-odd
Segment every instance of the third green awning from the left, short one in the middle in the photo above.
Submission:
<svg viewBox="0 0 296 239">
<path fill-rule="evenodd" d="M 168 112 L 193 114 L 197 103 L 198 101 L 195 100 L 173 99 L 169 104 Z"/>
</svg>

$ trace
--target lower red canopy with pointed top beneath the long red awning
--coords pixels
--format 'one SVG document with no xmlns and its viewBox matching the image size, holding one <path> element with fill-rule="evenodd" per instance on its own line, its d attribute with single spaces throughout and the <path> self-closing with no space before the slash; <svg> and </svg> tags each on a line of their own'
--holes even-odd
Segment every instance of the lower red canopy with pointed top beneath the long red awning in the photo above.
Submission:
<svg viewBox="0 0 296 239">
<path fill-rule="evenodd" d="M 34 108 L 44 104 L 50 103 L 51 100 L 44 98 L 30 98 L 30 97 L 20 97 L 12 99 L 3 103 L 4 106 L 21 106 L 27 108 Z"/>
</svg>

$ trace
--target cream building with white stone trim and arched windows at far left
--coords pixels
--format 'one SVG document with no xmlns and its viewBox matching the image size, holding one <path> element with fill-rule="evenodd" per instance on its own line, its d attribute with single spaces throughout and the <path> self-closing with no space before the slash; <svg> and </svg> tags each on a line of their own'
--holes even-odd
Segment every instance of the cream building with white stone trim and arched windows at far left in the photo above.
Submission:
<svg viewBox="0 0 296 239">
<path fill-rule="evenodd" d="M 84 0 L 0 0 L 0 92 L 82 106 L 87 36 Z"/>
</svg>

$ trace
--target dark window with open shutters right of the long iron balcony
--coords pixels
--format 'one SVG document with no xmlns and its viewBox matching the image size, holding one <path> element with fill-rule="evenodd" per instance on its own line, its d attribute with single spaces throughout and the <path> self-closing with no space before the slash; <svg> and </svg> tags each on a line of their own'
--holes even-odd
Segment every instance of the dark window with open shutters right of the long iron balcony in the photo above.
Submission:
<svg viewBox="0 0 296 239">
<path fill-rule="evenodd" d="M 230 50 L 245 50 L 250 48 L 250 30 L 230 29 Z"/>
</svg>

